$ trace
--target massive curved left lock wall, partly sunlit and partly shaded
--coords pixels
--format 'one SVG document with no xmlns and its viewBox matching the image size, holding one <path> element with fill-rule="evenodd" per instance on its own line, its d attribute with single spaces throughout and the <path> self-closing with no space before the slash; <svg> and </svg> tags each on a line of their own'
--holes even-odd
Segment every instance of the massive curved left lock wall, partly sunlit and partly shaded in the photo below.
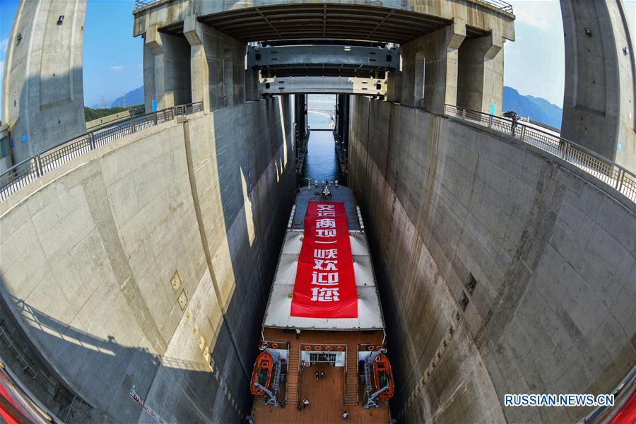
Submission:
<svg viewBox="0 0 636 424">
<path fill-rule="evenodd" d="M 199 113 L 92 151 L 0 206 L 1 294 L 93 420 L 153 422 L 133 385 L 166 422 L 249 411 L 293 140 L 288 98 Z"/>
</svg>

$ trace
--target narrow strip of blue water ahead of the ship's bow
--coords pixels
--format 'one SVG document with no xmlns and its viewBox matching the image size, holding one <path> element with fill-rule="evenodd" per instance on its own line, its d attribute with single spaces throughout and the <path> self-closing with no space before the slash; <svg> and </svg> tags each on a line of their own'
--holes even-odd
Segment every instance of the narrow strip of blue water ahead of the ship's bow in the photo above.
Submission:
<svg viewBox="0 0 636 424">
<path fill-rule="evenodd" d="M 339 184 L 346 184 L 336 154 L 336 143 L 331 131 L 312 131 L 307 144 L 307 156 L 302 165 L 299 184 L 307 184 L 307 179 L 324 181 L 338 180 Z"/>
</svg>

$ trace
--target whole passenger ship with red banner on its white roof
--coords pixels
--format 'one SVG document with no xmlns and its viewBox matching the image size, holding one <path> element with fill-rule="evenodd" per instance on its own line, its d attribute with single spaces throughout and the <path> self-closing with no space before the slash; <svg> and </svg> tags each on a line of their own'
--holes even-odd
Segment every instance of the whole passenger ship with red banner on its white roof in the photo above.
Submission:
<svg viewBox="0 0 636 424">
<path fill-rule="evenodd" d="M 391 421 L 395 383 L 382 305 L 348 187 L 314 181 L 298 190 L 258 348 L 255 423 Z"/>
</svg>

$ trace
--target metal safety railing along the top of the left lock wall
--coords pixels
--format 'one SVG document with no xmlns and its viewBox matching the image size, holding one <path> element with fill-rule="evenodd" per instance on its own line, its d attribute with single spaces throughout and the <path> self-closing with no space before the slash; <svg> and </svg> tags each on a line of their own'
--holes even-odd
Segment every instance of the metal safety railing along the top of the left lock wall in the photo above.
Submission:
<svg viewBox="0 0 636 424">
<path fill-rule="evenodd" d="M 95 148 L 105 146 L 108 143 L 112 143 L 112 141 L 129 136 L 142 129 L 172 121 L 175 117 L 201 112 L 202 110 L 202 102 L 170 107 L 169 109 L 131 117 L 131 119 L 127 119 L 124 122 L 117 122 L 117 124 L 90 131 L 71 141 L 65 141 L 57 146 L 48 148 L 46 151 L 33 156 L 33 158 L 28 158 L 13 165 L 0 174 L 0 203 L 47 172 Z"/>
</svg>

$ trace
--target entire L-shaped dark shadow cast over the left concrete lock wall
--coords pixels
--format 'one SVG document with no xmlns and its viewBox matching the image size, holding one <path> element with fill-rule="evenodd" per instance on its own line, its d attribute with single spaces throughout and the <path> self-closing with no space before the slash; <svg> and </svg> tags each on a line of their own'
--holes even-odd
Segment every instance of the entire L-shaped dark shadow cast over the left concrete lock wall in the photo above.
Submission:
<svg viewBox="0 0 636 424">
<path fill-rule="evenodd" d="M 236 114 L 233 109 L 217 111 L 215 118 Z M 105 336 L 112 323 L 97 318 L 64 322 L 60 317 L 73 316 L 64 312 L 70 305 L 37 310 L 11 295 L 0 276 L 0 324 L 6 328 L 0 355 L 62 420 L 81 422 L 90 415 L 93 421 L 152 421 L 129 395 L 133 385 L 166 421 L 240 422 L 250 410 L 249 374 L 294 194 L 294 139 L 289 98 L 264 100 L 249 110 L 260 116 L 246 114 L 242 124 L 268 122 L 264 134 L 238 134 L 223 119 L 214 119 L 213 126 L 234 285 L 211 352 L 213 370 L 202 353 L 200 362 L 158 356 L 143 340 Z M 72 366 L 53 369 L 59 363 Z"/>
</svg>

